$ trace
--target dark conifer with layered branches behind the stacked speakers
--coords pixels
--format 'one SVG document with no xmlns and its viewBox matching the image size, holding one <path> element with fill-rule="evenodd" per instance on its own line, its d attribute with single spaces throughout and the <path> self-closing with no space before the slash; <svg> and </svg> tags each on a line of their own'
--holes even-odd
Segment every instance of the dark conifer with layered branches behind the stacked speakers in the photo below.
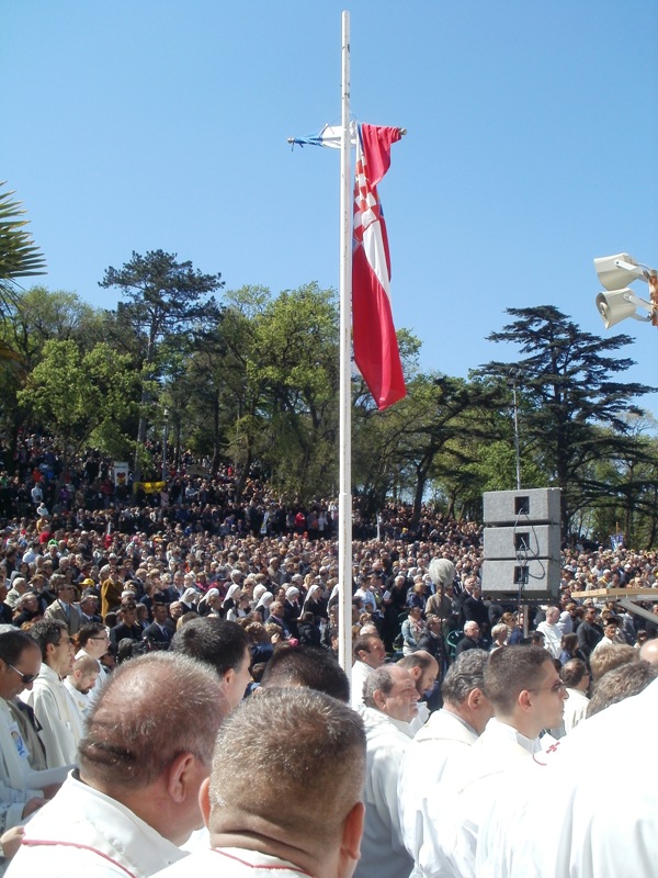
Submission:
<svg viewBox="0 0 658 878">
<path fill-rule="evenodd" d="M 651 389 L 614 380 L 633 364 L 616 354 L 629 344 L 627 336 L 583 333 L 553 305 L 507 313 L 514 322 L 489 339 L 512 342 L 529 356 L 512 363 L 489 362 L 478 374 L 519 382 L 524 454 L 546 472 L 549 484 L 561 488 L 568 533 L 574 515 L 606 492 L 605 484 L 588 475 L 589 465 L 632 452 L 625 417 L 642 413 L 631 399 Z"/>
</svg>

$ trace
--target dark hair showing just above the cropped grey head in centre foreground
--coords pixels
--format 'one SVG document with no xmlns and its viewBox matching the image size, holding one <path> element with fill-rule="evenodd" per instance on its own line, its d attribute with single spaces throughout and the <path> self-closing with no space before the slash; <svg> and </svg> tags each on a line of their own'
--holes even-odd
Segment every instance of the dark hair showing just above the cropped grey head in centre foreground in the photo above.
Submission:
<svg viewBox="0 0 658 878">
<path fill-rule="evenodd" d="M 277 645 L 265 667 L 262 686 L 305 686 L 345 703 L 350 700 L 345 672 L 331 653 L 318 646 Z"/>
</svg>

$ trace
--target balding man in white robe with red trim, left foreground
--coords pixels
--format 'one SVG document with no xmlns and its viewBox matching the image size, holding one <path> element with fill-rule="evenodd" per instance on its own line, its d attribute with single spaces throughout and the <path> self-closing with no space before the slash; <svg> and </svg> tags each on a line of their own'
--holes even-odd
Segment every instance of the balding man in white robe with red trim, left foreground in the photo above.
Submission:
<svg viewBox="0 0 658 878">
<path fill-rule="evenodd" d="M 9 875 L 147 878 L 185 856 L 227 710 L 213 672 L 186 656 L 121 665 L 90 711 L 79 774 L 30 821 Z"/>
</svg>

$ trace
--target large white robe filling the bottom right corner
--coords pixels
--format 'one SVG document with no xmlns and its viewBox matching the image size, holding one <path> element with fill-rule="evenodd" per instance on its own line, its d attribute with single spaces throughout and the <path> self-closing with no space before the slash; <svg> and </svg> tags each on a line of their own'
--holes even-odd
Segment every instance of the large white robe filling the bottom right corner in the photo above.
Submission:
<svg viewBox="0 0 658 878">
<path fill-rule="evenodd" d="M 478 847 L 478 878 L 651 876 L 658 862 L 658 764 L 640 759 L 642 780 L 617 784 L 593 770 L 611 741 L 658 725 L 658 680 L 581 722 L 521 778 L 501 778 Z M 638 763 L 638 765 L 640 765 Z M 589 768 L 588 768 L 589 766 Z M 623 840 L 632 840 L 624 844 Z"/>
</svg>

